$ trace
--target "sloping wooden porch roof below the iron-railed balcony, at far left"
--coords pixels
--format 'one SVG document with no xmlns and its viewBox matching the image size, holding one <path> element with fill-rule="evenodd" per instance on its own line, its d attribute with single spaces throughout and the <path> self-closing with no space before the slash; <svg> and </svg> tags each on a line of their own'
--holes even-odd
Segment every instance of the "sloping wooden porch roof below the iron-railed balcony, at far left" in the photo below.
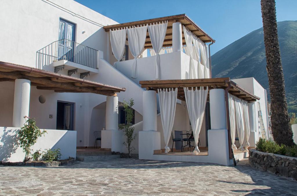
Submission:
<svg viewBox="0 0 297 196">
<path fill-rule="evenodd" d="M 14 82 L 15 79 L 28 79 L 31 81 L 31 86 L 36 86 L 40 90 L 54 90 L 56 93 L 95 93 L 116 96 L 116 93 L 126 90 L 126 88 L 0 61 L 0 82 Z"/>
</svg>

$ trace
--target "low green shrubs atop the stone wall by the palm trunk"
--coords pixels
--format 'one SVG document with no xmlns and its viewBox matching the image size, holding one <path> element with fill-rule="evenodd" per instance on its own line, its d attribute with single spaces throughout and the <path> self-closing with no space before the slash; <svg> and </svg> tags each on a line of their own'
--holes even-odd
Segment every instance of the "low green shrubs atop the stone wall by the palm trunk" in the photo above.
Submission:
<svg viewBox="0 0 297 196">
<path fill-rule="evenodd" d="M 260 152 L 297 157 L 297 146 L 285 146 L 284 144 L 279 146 L 274 141 L 269 141 L 263 138 L 259 138 L 259 141 L 257 141 L 256 150 Z"/>
</svg>

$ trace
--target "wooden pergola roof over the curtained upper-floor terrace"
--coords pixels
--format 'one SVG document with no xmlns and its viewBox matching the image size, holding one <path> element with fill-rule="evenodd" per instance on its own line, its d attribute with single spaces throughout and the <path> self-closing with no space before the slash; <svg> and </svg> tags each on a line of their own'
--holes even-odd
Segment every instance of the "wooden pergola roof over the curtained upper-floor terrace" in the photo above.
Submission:
<svg viewBox="0 0 297 196">
<path fill-rule="evenodd" d="M 166 21 L 166 20 L 168 21 L 168 25 L 167 25 L 166 36 L 165 36 L 165 39 L 163 42 L 163 47 L 172 46 L 172 24 L 175 22 L 180 22 L 187 29 L 189 29 L 194 35 L 196 35 L 199 39 L 201 39 L 204 43 L 215 42 L 215 40 L 212 39 L 211 36 L 209 36 L 205 31 L 203 31 L 202 28 L 200 28 L 196 23 L 194 23 L 186 14 L 109 25 L 109 26 L 104 26 L 103 28 L 105 29 L 106 32 L 108 32 L 110 29 L 115 30 L 115 29 L 119 29 L 119 28 L 129 28 L 131 26 L 137 26 L 137 25 L 139 25 L 139 26 L 146 25 L 146 24 L 150 25 L 151 23 L 158 23 L 158 22 L 162 22 L 162 21 Z M 183 31 L 183 29 L 182 29 L 182 31 Z M 186 41 L 184 38 L 184 33 L 182 33 L 182 42 L 183 42 L 183 45 L 186 44 Z M 152 48 L 151 39 L 149 37 L 149 31 L 146 32 L 146 42 L 144 44 L 144 48 L 146 48 L 146 49 Z"/>
</svg>

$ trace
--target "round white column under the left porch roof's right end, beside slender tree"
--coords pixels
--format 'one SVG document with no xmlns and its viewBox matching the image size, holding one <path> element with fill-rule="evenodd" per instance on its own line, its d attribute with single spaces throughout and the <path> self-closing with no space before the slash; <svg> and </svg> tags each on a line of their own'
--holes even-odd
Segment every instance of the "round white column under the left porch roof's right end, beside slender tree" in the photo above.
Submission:
<svg viewBox="0 0 297 196">
<path fill-rule="evenodd" d="M 119 107 L 117 96 L 106 97 L 105 109 L 105 129 L 106 130 L 119 130 Z"/>
</svg>

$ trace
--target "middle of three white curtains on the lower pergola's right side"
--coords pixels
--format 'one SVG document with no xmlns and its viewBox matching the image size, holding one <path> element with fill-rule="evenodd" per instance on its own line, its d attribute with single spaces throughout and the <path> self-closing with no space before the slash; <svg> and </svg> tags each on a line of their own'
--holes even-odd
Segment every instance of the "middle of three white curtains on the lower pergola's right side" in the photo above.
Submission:
<svg viewBox="0 0 297 196">
<path fill-rule="evenodd" d="M 244 151 L 242 146 L 244 140 L 244 117 L 243 117 L 243 109 L 242 103 L 239 98 L 234 97 L 234 105 L 235 105 L 235 120 L 237 127 L 237 134 L 239 140 L 239 148 L 238 150 Z"/>
</svg>

